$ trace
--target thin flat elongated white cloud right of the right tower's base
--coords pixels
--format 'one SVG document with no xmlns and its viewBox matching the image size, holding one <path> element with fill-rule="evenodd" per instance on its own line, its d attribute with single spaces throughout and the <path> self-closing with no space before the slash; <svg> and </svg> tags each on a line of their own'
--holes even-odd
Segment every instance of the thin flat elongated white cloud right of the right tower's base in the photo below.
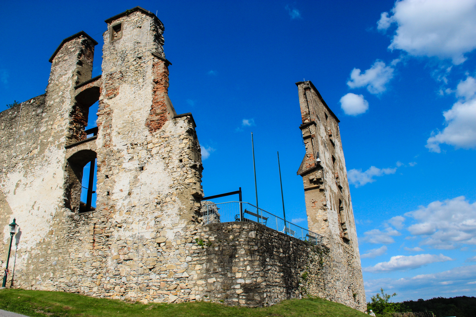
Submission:
<svg viewBox="0 0 476 317">
<path fill-rule="evenodd" d="M 372 273 L 381 273 L 405 269 L 417 269 L 423 265 L 435 263 L 435 262 L 445 262 L 452 261 L 450 257 L 444 256 L 443 254 L 418 254 L 418 255 L 397 255 L 391 257 L 388 262 L 380 262 L 374 266 L 364 268 L 366 272 Z"/>
</svg>

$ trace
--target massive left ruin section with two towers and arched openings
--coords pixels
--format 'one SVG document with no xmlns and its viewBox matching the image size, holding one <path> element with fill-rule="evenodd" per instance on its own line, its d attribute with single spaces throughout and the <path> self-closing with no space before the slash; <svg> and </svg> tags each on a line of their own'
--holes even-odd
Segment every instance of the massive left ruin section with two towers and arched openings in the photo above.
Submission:
<svg viewBox="0 0 476 317">
<path fill-rule="evenodd" d="M 21 231 L 8 283 L 193 300 L 189 251 L 203 196 L 195 123 L 167 94 L 170 62 L 155 14 L 136 7 L 106 23 L 102 75 L 91 78 L 98 43 L 81 31 L 51 56 L 46 93 L 0 114 L 0 239 L 10 238 L 13 217 Z M 97 101 L 98 127 L 85 131 Z M 81 183 L 96 160 L 90 186 Z M 90 194 L 95 182 L 96 207 L 84 208 L 81 187 Z M 7 254 L 0 250 L 2 265 Z"/>
</svg>

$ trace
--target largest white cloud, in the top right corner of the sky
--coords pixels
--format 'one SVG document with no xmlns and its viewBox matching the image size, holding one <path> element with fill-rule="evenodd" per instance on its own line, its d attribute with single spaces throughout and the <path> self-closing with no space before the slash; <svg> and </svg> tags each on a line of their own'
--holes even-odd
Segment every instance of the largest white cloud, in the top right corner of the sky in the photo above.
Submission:
<svg viewBox="0 0 476 317">
<path fill-rule="evenodd" d="M 451 59 L 463 63 L 476 48 L 476 0 L 400 0 L 383 12 L 377 28 L 397 26 L 390 49 L 412 56 Z"/>
</svg>

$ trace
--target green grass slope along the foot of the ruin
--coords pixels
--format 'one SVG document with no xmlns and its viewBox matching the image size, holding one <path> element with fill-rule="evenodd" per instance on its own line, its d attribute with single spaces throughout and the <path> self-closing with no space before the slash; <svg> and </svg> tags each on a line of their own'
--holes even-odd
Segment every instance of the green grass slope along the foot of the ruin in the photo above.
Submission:
<svg viewBox="0 0 476 317">
<path fill-rule="evenodd" d="M 30 317 L 368 317 L 321 298 L 290 299 L 271 307 L 230 307 L 208 302 L 127 303 L 107 298 L 39 290 L 0 290 L 0 309 Z"/>
</svg>

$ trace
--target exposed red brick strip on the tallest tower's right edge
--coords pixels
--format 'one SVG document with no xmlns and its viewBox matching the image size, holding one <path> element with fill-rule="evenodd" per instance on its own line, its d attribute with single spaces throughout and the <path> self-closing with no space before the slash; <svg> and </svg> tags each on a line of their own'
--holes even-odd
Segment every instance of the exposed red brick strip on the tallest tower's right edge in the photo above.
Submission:
<svg viewBox="0 0 476 317">
<path fill-rule="evenodd" d="M 169 120 L 170 114 L 165 102 L 165 96 L 169 88 L 169 67 L 167 62 L 154 57 L 152 64 L 152 76 L 154 86 L 152 88 L 152 106 L 149 117 L 147 118 L 147 127 L 149 132 L 155 132 Z"/>
</svg>

